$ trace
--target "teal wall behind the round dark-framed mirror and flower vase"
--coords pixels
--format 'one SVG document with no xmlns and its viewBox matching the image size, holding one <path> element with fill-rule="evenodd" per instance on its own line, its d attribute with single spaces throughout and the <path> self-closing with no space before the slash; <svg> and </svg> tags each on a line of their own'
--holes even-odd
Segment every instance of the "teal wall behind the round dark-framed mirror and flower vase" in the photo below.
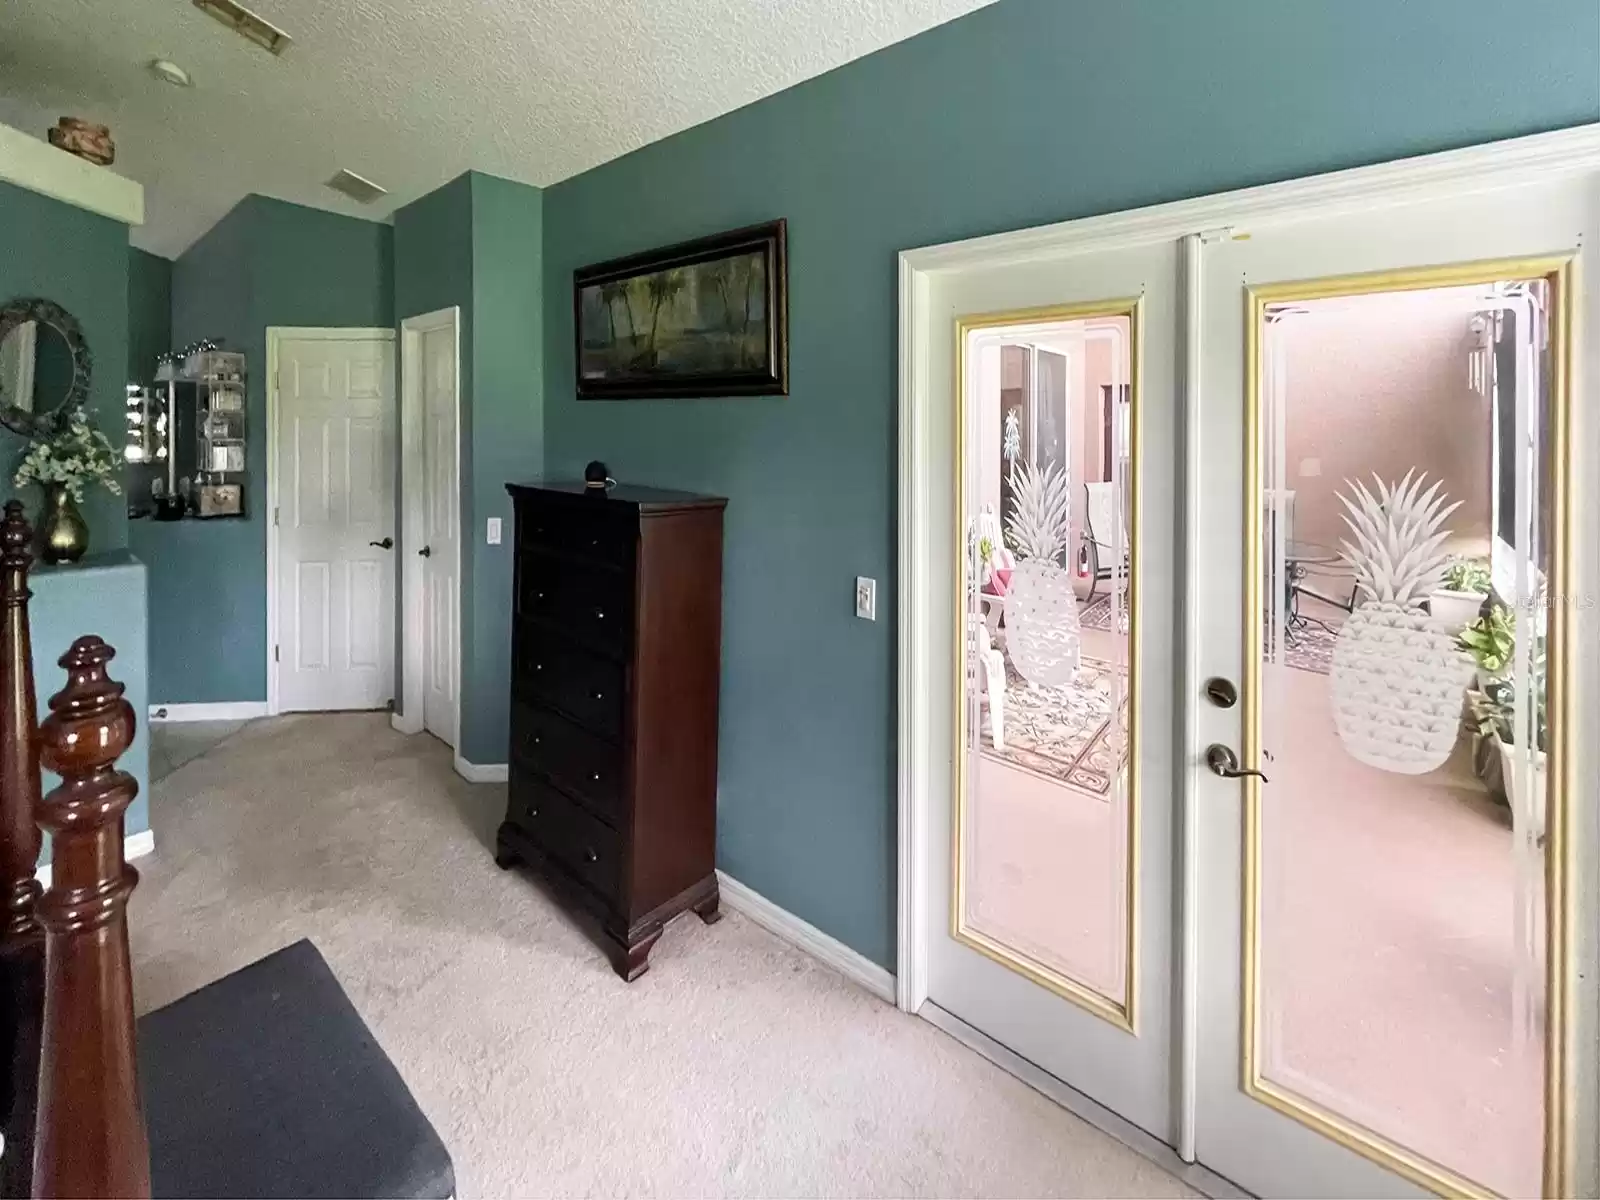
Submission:
<svg viewBox="0 0 1600 1200">
<path fill-rule="evenodd" d="M 0 182 L 0 304 L 30 296 L 51 299 L 78 318 L 94 360 L 90 411 L 102 432 L 118 437 L 128 363 L 128 227 Z M 0 430 L 6 496 L 16 493 L 11 475 L 24 450 L 22 438 Z M 38 490 L 29 488 L 22 501 L 35 517 Z M 120 496 L 93 488 L 83 514 L 91 552 L 128 544 L 128 507 Z"/>
</svg>

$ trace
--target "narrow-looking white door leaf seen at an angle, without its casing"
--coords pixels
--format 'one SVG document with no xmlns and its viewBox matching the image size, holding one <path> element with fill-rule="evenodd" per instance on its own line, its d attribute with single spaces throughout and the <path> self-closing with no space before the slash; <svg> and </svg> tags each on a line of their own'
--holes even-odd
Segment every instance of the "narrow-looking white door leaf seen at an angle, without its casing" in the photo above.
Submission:
<svg viewBox="0 0 1600 1200">
<path fill-rule="evenodd" d="M 432 323 L 419 334 L 419 374 L 424 424 L 422 546 L 422 725 L 446 746 L 456 744 L 456 678 L 461 645 L 456 611 L 461 514 L 456 478 L 456 317 Z"/>
</svg>

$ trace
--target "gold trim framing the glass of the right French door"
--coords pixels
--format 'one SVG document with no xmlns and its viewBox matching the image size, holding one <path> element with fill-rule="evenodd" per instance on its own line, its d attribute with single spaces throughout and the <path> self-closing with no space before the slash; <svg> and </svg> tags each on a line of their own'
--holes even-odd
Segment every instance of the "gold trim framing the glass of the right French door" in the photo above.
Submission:
<svg viewBox="0 0 1600 1200">
<path fill-rule="evenodd" d="M 1365 275 L 1334 275 L 1315 280 L 1299 280 L 1245 286 L 1245 670 L 1240 694 L 1242 746 L 1240 758 L 1246 768 L 1261 766 L 1261 618 L 1262 603 L 1262 491 L 1261 491 L 1261 381 L 1262 339 L 1269 304 L 1293 304 L 1336 296 L 1366 296 L 1390 291 L 1421 291 L 1426 288 L 1470 286 L 1498 282 L 1547 280 L 1552 290 L 1550 302 L 1550 462 L 1552 462 L 1552 571 L 1549 592 L 1554 597 L 1571 595 L 1571 482 L 1568 464 L 1568 437 L 1573 403 L 1573 256 L 1549 256 L 1530 259 L 1494 259 L 1459 262 L 1405 270 L 1382 270 Z M 1568 1014 L 1571 1011 L 1573 954 L 1571 944 L 1571 853 L 1570 797 L 1571 755 L 1568 754 L 1568 730 L 1571 726 L 1568 683 L 1568 618 L 1570 605 L 1554 603 L 1549 608 L 1547 629 L 1547 710 L 1549 720 L 1549 816 L 1546 822 L 1546 1064 L 1544 1064 L 1544 1194 L 1566 1195 L 1571 1178 L 1571 1074 Z M 1398 1142 L 1347 1120 L 1288 1088 L 1262 1077 L 1259 1061 L 1261 1042 L 1261 781 L 1248 776 L 1243 781 L 1243 1037 L 1242 1037 L 1242 1086 L 1243 1091 L 1291 1117 L 1293 1120 L 1333 1139 L 1346 1149 L 1427 1187 L 1440 1195 L 1490 1197 L 1483 1184 L 1451 1171 L 1448 1166 L 1424 1158 Z"/>
</svg>

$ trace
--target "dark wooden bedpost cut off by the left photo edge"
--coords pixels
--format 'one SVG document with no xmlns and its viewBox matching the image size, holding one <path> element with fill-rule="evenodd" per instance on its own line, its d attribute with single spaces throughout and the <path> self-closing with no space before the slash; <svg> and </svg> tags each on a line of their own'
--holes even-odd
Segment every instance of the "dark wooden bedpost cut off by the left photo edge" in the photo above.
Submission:
<svg viewBox="0 0 1600 1200">
<path fill-rule="evenodd" d="M 45 942 L 38 901 L 38 725 L 27 568 L 34 531 L 19 501 L 0 520 L 0 1194 L 29 1195 L 38 1091 Z"/>
</svg>

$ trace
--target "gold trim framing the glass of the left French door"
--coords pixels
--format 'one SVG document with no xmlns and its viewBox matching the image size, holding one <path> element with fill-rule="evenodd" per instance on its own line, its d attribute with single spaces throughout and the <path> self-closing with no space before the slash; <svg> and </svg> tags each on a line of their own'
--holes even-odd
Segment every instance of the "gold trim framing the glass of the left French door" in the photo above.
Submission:
<svg viewBox="0 0 1600 1200">
<path fill-rule="evenodd" d="M 1014 309 L 1010 312 L 986 312 L 958 317 L 955 322 L 955 514 L 954 514 L 954 558 L 955 558 L 955 629 L 954 629 L 954 696 L 955 696 L 955 798 L 950 821 L 950 936 L 978 954 L 992 958 L 1002 966 L 1016 971 L 1034 984 L 1045 987 L 1064 1000 L 1078 1005 L 1094 1016 L 1117 1026 L 1128 1034 L 1138 1034 L 1138 978 L 1139 978 L 1139 578 L 1142 563 L 1139 554 L 1139 509 L 1141 509 L 1141 469 L 1139 469 L 1139 427 L 1141 427 L 1141 349 L 1142 349 L 1142 314 L 1144 299 L 1141 296 L 1125 299 L 1090 301 L 1085 304 L 1059 304 L 1037 309 Z M 968 552 L 966 552 L 966 339 L 978 330 L 995 330 L 1005 326 L 1037 326 L 1075 320 L 1115 318 L 1128 322 L 1128 765 L 1126 765 L 1126 939 L 1123 952 L 1126 965 L 1123 970 L 1123 994 L 1110 998 L 1086 987 L 1061 971 L 1056 971 L 1034 958 L 1021 955 L 995 938 L 971 928 L 966 920 L 966 866 L 962 853 L 962 837 L 966 829 L 968 813 L 968 752 L 966 752 L 966 587 L 968 587 Z M 1069 547 L 1069 557 L 1075 547 Z M 1115 709 L 1112 710 L 1115 720 Z"/>
</svg>

